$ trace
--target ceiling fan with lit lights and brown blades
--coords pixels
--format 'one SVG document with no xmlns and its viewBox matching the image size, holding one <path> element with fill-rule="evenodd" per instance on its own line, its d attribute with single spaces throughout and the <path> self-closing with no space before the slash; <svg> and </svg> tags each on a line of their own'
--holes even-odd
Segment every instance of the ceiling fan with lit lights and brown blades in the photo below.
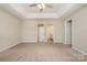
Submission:
<svg viewBox="0 0 87 65">
<path fill-rule="evenodd" d="M 42 12 L 45 8 L 50 8 L 50 9 L 53 8 L 51 4 L 47 3 L 33 3 L 30 4 L 29 7 L 37 7 L 40 9 L 40 12 Z"/>
</svg>

